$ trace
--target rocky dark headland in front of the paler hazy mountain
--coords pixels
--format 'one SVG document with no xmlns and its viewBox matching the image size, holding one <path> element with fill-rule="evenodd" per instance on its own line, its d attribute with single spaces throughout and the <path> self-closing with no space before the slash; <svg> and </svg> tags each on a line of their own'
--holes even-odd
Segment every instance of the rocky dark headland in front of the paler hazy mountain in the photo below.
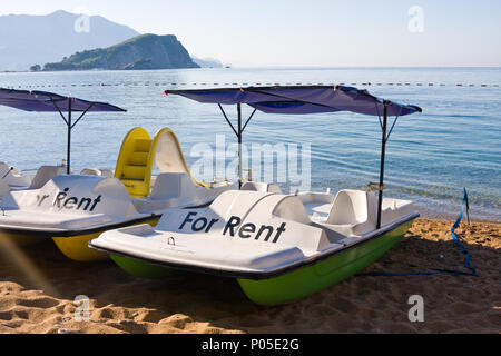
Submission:
<svg viewBox="0 0 501 356">
<path fill-rule="evenodd" d="M 76 52 L 61 62 L 47 63 L 50 70 L 174 69 L 199 68 L 173 34 L 143 34 L 119 44 Z"/>
</svg>

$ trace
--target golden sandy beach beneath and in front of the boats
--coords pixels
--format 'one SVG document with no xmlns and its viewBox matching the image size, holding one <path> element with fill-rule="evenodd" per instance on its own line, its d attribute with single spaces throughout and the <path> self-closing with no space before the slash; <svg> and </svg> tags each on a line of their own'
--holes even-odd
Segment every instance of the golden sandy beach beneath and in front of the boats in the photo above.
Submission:
<svg viewBox="0 0 501 356">
<path fill-rule="evenodd" d="M 453 221 L 420 219 L 365 271 L 465 270 Z M 237 283 L 203 275 L 130 277 L 111 261 L 77 264 L 51 241 L 2 246 L 0 333 L 497 333 L 501 332 L 501 224 L 463 224 L 458 236 L 480 277 L 352 277 L 306 299 L 253 305 Z M 465 270 L 468 271 L 468 270 Z M 90 320 L 75 320 L 79 295 Z M 424 298 L 424 323 L 410 323 L 409 297 Z"/>
</svg>

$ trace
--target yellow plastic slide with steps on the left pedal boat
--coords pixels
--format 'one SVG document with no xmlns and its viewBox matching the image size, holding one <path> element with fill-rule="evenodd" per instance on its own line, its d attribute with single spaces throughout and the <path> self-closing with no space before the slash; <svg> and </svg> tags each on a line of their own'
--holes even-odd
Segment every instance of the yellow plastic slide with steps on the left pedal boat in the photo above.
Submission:
<svg viewBox="0 0 501 356">
<path fill-rule="evenodd" d="M 121 180 L 132 198 L 147 197 L 155 162 L 163 174 L 187 174 L 196 186 L 209 187 L 191 176 L 176 134 L 169 128 L 159 130 L 154 139 L 143 128 L 130 130 L 121 145 L 115 177 Z"/>
</svg>

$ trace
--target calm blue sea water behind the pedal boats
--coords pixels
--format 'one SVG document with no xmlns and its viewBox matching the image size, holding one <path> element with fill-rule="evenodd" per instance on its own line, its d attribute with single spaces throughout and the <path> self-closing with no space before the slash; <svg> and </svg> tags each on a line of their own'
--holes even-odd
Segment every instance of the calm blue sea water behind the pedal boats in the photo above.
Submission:
<svg viewBox="0 0 501 356">
<path fill-rule="evenodd" d="M 367 82 L 372 85 L 363 85 Z M 128 110 L 90 113 L 76 127 L 76 171 L 114 168 L 121 140 L 134 127 L 144 127 L 151 135 L 170 127 L 193 165 L 199 159 L 190 155 L 195 145 L 205 142 L 215 148 L 216 135 L 226 135 L 227 145 L 235 136 L 217 106 L 164 97 L 165 89 L 275 83 L 345 83 L 422 107 L 423 113 L 399 120 L 389 142 L 386 194 L 414 200 L 425 216 L 452 217 L 461 209 L 462 188 L 466 187 L 472 216 L 501 221 L 501 68 L 0 73 L 0 87 L 53 91 Z M 227 112 L 235 117 L 236 110 L 228 107 Z M 257 113 L 245 134 L 248 144 L 311 144 L 315 190 L 362 188 L 376 181 L 380 140 L 377 118 L 348 112 L 298 117 Z M 60 164 L 65 157 L 66 127 L 57 113 L 0 107 L 0 161 L 31 169 Z"/>
</svg>

